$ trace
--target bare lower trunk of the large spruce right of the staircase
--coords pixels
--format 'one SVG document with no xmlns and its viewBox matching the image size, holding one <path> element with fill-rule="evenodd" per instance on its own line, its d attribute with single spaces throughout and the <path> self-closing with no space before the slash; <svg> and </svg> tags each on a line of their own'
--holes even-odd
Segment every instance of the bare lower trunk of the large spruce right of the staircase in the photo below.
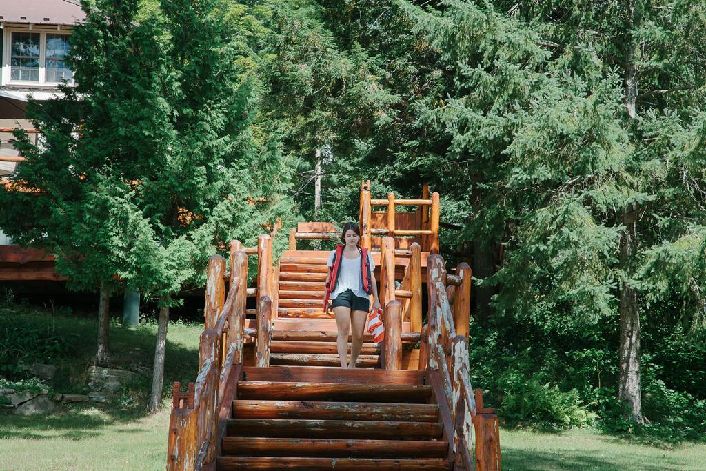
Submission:
<svg viewBox="0 0 706 471">
<path fill-rule="evenodd" d="M 621 237 L 620 263 L 628 271 L 635 251 L 635 221 L 623 215 L 626 231 Z M 626 277 L 627 278 L 627 277 Z M 640 388 L 640 308 L 638 293 L 623 279 L 620 288 L 620 369 L 618 371 L 618 398 L 629 409 L 629 417 L 642 424 L 642 397 Z"/>
</svg>

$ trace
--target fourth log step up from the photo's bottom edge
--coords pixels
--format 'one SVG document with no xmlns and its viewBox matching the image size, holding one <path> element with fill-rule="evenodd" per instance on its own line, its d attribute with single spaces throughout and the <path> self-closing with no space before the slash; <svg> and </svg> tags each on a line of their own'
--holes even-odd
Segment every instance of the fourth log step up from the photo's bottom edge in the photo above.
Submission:
<svg viewBox="0 0 706 471">
<path fill-rule="evenodd" d="M 340 403 L 301 400 L 234 400 L 236 419 L 333 419 L 436 422 L 436 404 Z M 248 453 L 243 453 L 248 454 Z M 292 455 L 294 456 L 294 455 Z"/>
</svg>

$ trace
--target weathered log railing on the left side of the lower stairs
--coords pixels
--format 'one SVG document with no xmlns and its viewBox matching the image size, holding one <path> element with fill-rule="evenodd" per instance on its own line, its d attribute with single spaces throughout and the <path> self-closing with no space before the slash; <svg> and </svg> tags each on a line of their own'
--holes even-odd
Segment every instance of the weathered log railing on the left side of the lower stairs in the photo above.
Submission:
<svg viewBox="0 0 706 471">
<path fill-rule="evenodd" d="M 174 383 L 168 470 L 198 470 L 215 462 L 218 436 L 225 424 L 219 417 L 224 417 L 222 410 L 228 407 L 227 388 L 235 383 L 243 363 L 248 256 L 237 241 L 230 244 L 230 249 L 228 273 L 222 256 L 208 260 L 199 371 L 196 383 L 189 383 L 186 393 L 180 392 L 180 383 Z M 227 297 L 225 280 L 230 281 Z"/>
</svg>

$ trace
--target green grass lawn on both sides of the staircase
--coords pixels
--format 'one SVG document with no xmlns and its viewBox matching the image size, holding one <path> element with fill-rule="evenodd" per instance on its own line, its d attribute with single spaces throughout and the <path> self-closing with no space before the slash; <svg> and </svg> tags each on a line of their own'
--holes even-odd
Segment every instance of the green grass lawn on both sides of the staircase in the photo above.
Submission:
<svg viewBox="0 0 706 471">
<path fill-rule="evenodd" d="M 34 325 L 71 339 L 61 361 L 57 392 L 85 392 L 85 370 L 95 352 L 92 317 L 0 307 L 0 328 Z M 167 334 L 164 408 L 148 415 L 150 379 L 124 390 L 112 405 L 61 405 L 49 417 L 0 415 L 0 470 L 164 470 L 173 381 L 194 381 L 203 326 L 172 323 Z M 150 366 L 157 327 L 111 326 L 116 366 Z M 544 434 L 501 431 L 503 470 L 705 470 L 706 445 L 645 446 L 594 429 Z"/>
</svg>

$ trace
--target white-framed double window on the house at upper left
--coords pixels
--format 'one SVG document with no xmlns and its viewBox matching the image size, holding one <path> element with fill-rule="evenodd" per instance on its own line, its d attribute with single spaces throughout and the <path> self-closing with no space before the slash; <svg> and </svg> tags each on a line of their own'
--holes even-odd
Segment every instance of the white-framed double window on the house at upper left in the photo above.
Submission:
<svg viewBox="0 0 706 471">
<path fill-rule="evenodd" d="M 3 84 L 73 83 L 68 67 L 68 32 L 5 28 Z"/>
</svg>

